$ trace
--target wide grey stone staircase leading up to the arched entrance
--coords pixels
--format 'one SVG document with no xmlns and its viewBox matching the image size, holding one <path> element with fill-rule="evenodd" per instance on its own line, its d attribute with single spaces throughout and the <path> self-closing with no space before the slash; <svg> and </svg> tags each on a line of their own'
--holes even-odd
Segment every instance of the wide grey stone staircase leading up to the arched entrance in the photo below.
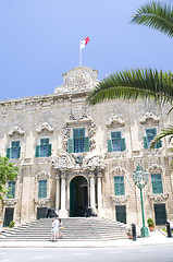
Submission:
<svg viewBox="0 0 173 262">
<path fill-rule="evenodd" d="M 0 241 L 48 241 L 51 238 L 51 218 L 44 218 L 2 231 Z M 125 239 L 126 225 L 97 217 L 62 218 L 64 240 L 114 240 Z"/>
</svg>

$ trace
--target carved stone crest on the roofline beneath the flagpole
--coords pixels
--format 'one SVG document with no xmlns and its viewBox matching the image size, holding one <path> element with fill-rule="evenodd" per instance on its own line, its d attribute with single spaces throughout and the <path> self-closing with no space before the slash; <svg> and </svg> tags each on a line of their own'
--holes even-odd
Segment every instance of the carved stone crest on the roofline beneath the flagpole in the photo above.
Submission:
<svg viewBox="0 0 173 262">
<path fill-rule="evenodd" d="M 98 84 L 97 70 L 86 67 L 78 67 L 63 74 L 63 85 L 54 90 L 54 93 L 64 94 L 73 92 L 86 92 Z"/>
</svg>

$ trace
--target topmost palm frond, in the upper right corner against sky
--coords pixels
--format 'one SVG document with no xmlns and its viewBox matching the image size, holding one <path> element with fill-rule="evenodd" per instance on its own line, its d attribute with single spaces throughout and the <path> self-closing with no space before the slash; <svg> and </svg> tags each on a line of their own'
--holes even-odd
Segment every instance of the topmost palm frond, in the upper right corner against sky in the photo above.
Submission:
<svg viewBox="0 0 173 262">
<path fill-rule="evenodd" d="M 173 37 L 173 8 L 169 3 L 145 4 L 136 11 L 131 22 L 149 26 Z"/>
</svg>

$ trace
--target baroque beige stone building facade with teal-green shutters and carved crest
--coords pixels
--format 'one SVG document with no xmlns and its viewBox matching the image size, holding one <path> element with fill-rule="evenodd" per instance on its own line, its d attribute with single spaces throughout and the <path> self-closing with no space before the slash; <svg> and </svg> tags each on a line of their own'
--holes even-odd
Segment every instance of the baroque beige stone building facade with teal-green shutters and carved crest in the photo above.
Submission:
<svg viewBox="0 0 173 262">
<path fill-rule="evenodd" d="M 4 225 L 44 217 L 45 207 L 61 217 L 85 216 L 89 207 L 99 217 L 141 226 L 133 181 L 138 163 L 149 174 L 146 219 L 173 223 L 171 145 L 164 139 L 148 148 L 173 121 L 170 105 L 115 99 L 89 106 L 97 73 L 75 68 L 51 95 L 0 102 L 0 155 L 20 167 L 16 181 L 7 184 L 11 196 L 0 203 Z"/>
</svg>

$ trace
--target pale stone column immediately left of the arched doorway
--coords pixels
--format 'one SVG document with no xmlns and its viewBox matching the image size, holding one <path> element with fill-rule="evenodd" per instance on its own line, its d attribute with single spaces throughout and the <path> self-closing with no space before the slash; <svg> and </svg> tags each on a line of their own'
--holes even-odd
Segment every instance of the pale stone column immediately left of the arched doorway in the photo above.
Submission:
<svg viewBox="0 0 173 262">
<path fill-rule="evenodd" d="M 67 217 L 67 211 L 66 211 L 66 192 L 65 192 L 65 171 L 61 172 L 61 210 L 59 212 L 59 215 L 61 217 Z"/>
</svg>

